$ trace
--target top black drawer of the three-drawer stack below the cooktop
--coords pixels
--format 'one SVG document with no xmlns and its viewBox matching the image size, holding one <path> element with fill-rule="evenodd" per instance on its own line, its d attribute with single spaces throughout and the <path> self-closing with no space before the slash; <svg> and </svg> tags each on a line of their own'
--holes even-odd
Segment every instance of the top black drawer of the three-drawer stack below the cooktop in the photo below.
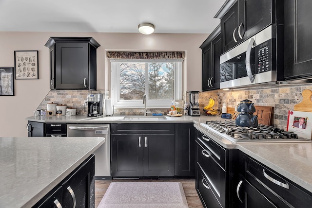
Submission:
<svg viewBox="0 0 312 208">
<path fill-rule="evenodd" d="M 209 150 L 211 157 L 224 169 L 226 170 L 226 150 L 215 143 L 214 140 L 210 139 L 208 136 L 203 135 L 201 132 L 197 131 L 197 139 L 201 146 Z"/>
</svg>

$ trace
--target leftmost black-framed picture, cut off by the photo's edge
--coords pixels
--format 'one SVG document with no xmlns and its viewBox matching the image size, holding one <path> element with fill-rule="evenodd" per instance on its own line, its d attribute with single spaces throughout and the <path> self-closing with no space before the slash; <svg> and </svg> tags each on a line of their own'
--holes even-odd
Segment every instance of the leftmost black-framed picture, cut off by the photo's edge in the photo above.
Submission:
<svg viewBox="0 0 312 208">
<path fill-rule="evenodd" d="M 0 67 L 0 95 L 14 95 L 13 67 Z"/>
</svg>

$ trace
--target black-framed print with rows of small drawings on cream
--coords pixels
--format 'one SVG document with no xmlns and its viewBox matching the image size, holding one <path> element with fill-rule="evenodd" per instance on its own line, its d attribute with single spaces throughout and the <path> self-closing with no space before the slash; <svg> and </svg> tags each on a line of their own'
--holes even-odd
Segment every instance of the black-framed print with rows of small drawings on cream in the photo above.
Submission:
<svg viewBox="0 0 312 208">
<path fill-rule="evenodd" d="M 39 79 L 38 51 L 14 51 L 15 79 Z"/>
</svg>

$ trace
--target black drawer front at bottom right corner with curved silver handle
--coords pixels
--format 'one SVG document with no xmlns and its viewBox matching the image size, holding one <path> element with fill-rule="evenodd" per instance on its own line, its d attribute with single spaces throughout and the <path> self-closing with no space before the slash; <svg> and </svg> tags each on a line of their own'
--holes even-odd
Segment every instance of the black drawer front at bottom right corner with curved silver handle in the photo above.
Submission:
<svg viewBox="0 0 312 208">
<path fill-rule="evenodd" d="M 261 192 L 278 195 L 293 207 L 311 208 L 312 193 L 271 171 L 249 156 L 245 157 L 245 177 Z"/>
</svg>

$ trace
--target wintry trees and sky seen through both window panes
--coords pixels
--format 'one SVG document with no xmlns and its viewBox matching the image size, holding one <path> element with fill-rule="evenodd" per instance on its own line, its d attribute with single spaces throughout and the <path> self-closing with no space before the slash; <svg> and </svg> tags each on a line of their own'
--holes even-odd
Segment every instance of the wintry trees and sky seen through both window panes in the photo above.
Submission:
<svg viewBox="0 0 312 208">
<path fill-rule="evenodd" d="M 173 100 L 174 78 L 174 62 L 120 63 L 120 99 L 141 100 L 145 90 L 148 90 L 150 100 Z"/>
</svg>

